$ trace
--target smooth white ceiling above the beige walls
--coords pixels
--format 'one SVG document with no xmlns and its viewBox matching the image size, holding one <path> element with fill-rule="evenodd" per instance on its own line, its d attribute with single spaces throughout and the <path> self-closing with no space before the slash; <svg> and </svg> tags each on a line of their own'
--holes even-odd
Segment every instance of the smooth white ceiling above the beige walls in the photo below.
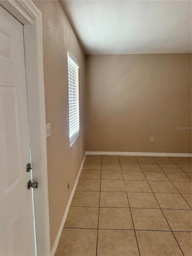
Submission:
<svg viewBox="0 0 192 256">
<path fill-rule="evenodd" d="M 191 53 L 191 1 L 61 1 L 85 54 Z"/>
</svg>

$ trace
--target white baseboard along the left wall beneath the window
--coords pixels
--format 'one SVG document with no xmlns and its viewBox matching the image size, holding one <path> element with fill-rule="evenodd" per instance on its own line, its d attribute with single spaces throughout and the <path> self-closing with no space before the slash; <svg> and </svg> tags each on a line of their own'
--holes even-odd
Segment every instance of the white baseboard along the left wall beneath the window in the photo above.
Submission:
<svg viewBox="0 0 192 256">
<path fill-rule="evenodd" d="M 75 180 L 75 184 L 74 184 L 74 186 L 73 186 L 73 190 L 71 191 L 71 195 L 70 195 L 70 197 L 69 197 L 69 201 L 68 201 L 68 203 L 67 203 L 67 207 L 66 207 L 66 209 L 65 209 L 63 219 L 62 219 L 62 221 L 61 221 L 61 226 L 59 227 L 57 236 L 56 236 L 56 238 L 55 238 L 55 242 L 54 242 L 53 247 L 52 247 L 52 250 L 51 250 L 51 256 L 54 256 L 54 255 L 55 255 L 55 251 L 56 251 L 57 246 L 58 246 L 58 242 L 59 242 L 59 239 L 60 239 L 62 230 L 63 230 L 63 226 L 64 226 L 65 220 L 66 220 L 66 218 L 67 218 L 67 214 L 68 214 L 68 211 L 69 211 L 69 207 L 70 207 L 71 201 L 72 201 L 72 199 L 73 199 L 73 195 L 74 195 L 74 193 L 75 193 L 75 189 L 76 189 L 76 186 L 77 186 L 77 182 L 78 182 L 78 179 L 79 179 L 79 176 L 80 176 L 80 174 L 81 174 L 81 170 L 82 170 L 82 167 L 83 167 L 83 164 L 84 164 L 84 161 L 85 161 L 85 156 L 86 156 L 86 153 L 85 153 L 85 155 L 84 155 L 84 157 L 83 157 L 83 160 L 82 160 L 82 163 L 81 163 L 79 172 L 78 172 L 78 174 L 77 174 L 77 177 L 76 177 L 76 180 Z"/>
</svg>

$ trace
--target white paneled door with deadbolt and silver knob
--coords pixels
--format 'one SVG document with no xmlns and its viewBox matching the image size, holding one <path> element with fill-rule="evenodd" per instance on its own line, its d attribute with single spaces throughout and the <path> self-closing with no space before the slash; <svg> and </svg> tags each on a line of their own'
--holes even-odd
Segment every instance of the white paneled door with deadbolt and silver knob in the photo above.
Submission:
<svg viewBox="0 0 192 256">
<path fill-rule="evenodd" d="M 35 255 L 23 25 L 0 16 L 0 255 Z"/>
</svg>

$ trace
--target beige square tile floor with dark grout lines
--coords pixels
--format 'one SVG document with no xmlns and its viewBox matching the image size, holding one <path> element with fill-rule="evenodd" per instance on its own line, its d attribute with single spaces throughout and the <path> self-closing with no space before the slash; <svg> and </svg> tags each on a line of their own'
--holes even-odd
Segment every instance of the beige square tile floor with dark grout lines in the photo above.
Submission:
<svg viewBox="0 0 192 256">
<path fill-rule="evenodd" d="M 61 255 L 191 256 L 191 158 L 86 156 Z"/>
</svg>

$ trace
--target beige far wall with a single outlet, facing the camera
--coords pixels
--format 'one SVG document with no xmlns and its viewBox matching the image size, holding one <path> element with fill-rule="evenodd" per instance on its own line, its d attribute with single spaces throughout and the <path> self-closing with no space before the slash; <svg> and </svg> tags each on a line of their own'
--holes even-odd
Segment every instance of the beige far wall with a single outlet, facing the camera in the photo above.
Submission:
<svg viewBox="0 0 192 256">
<path fill-rule="evenodd" d="M 191 54 L 86 56 L 85 91 L 86 151 L 191 152 Z"/>
</svg>

